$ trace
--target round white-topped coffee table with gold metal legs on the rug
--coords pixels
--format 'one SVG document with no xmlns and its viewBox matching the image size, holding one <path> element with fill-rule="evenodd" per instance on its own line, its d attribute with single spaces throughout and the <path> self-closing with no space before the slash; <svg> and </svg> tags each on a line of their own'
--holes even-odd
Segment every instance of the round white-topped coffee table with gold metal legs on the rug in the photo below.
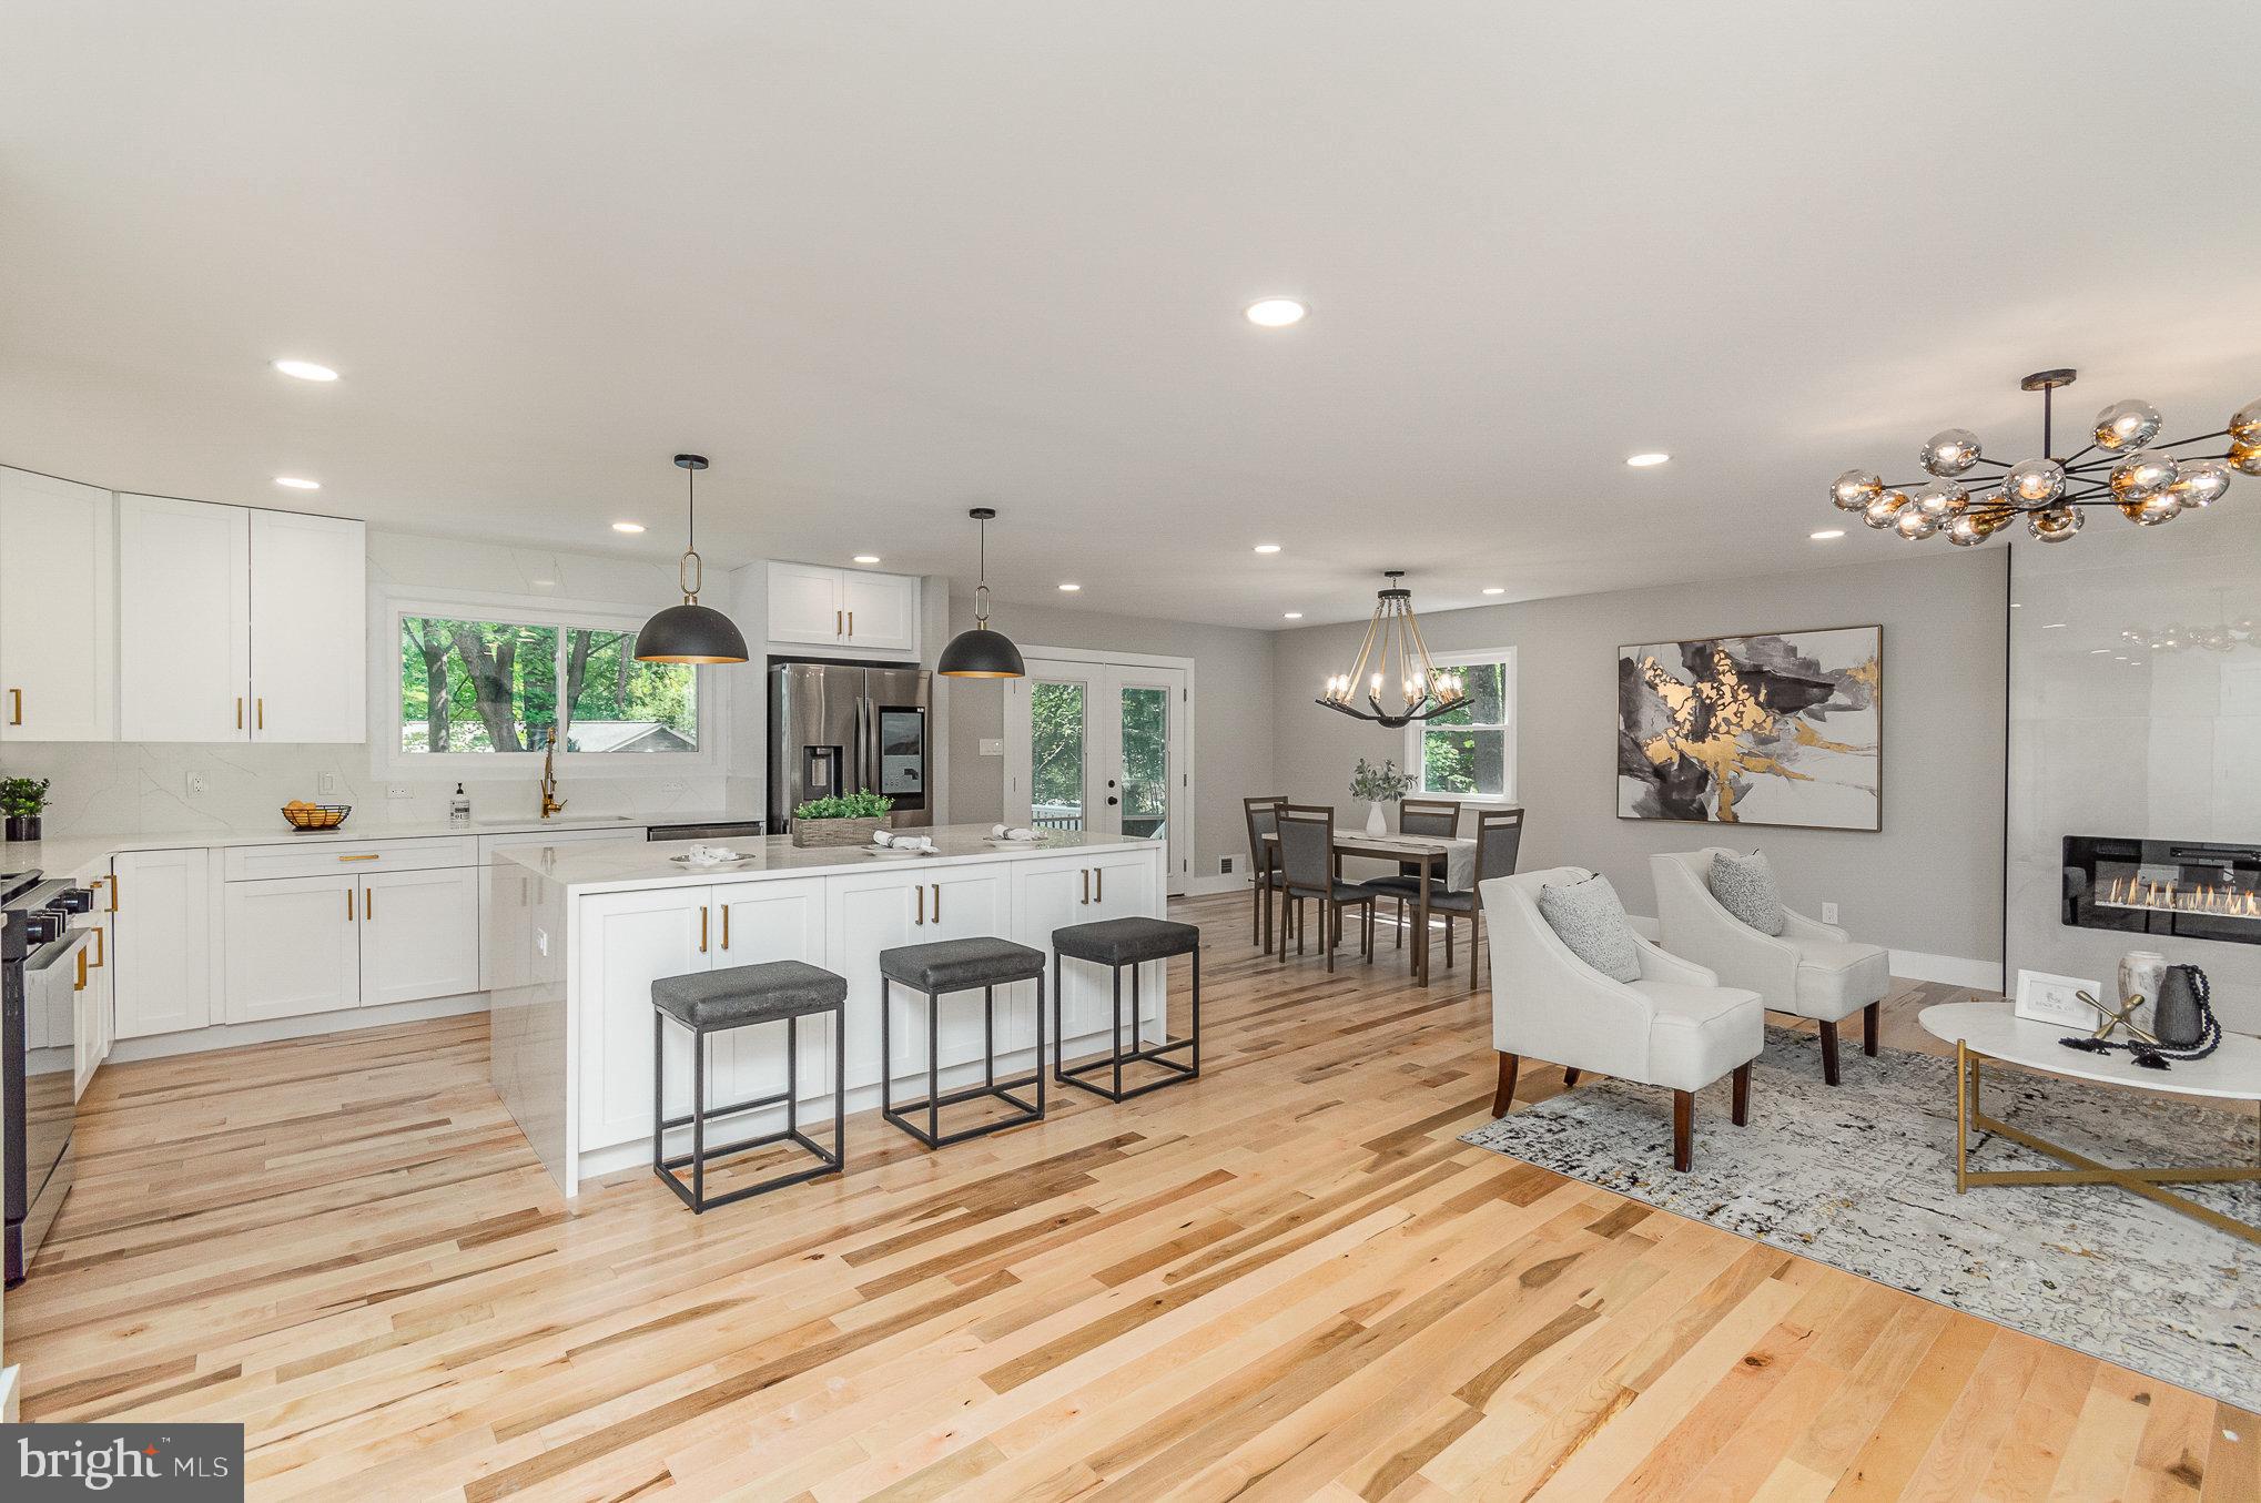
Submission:
<svg viewBox="0 0 2261 1503">
<path fill-rule="evenodd" d="M 2225 1180 L 2261 1180 L 2261 1162 L 2247 1166 L 2207 1164 L 2193 1168 L 2114 1168 L 2035 1137 L 2006 1121 L 1987 1117 L 1978 1098 L 1978 1062 L 2003 1060 L 2051 1076 L 2094 1080 L 2098 1085 L 2134 1085 L 2173 1096 L 2216 1096 L 2220 1101 L 2261 1101 L 2261 1040 L 2225 1033 L 2220 1049 L 2204 1060 L 2175 1060 L 2173 1069 L 2143 1069 L 2125 1053 L 2085 1053 L 2060 1040 L 2073 1028 L 2017 1017 L 2008 1001 L 1944 1001 L 1924 1008 L 1924 1031 L 1956 1046 L 1956 1193 L 1972 1184 L 2119 1184 L 2125 1191 L 2157 1200 L 2184 1216 L 2261 1243 L 2261 1227 L 2232 1220 L 2220 1211 L 2186 1200 L 2162 1184 L 2220 1184 Z M 1999 1132 L 2012 1144 L 2071 1164 L 2071 1168 L 1969 1168 L 1969 1132 Z M 2261 1121 L 2256 1121 L 2261 1128 Z"/>
</svg>

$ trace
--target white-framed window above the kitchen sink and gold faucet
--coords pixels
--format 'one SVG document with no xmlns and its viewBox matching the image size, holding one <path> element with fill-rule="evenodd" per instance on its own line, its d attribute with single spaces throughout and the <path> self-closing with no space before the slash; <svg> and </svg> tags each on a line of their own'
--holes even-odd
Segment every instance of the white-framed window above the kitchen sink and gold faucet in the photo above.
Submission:
<svg viewBox="0 0 2261 1503">
<path fill-rule="evenodd" d="M 402 601 L 391 615 L 393 764 L 540 753 L 696 757 L 701 683 L 638 662 L 640 622 L 597 610 Z"/>
</svg>

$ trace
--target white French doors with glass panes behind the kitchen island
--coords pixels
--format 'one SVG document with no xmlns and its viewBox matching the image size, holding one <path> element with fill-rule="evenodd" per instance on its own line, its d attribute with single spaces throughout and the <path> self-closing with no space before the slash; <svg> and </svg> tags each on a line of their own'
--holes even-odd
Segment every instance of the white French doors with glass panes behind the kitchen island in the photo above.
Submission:
<svg viewBox="0 0 2261 1503">
<path fill-rule="evenodd" d="M 1006 818 L 1169 843 L 1183 890 L 1192 843 L 1187 674 L 1140 662 L 1029 658 L 1006 694 Z"/>
</svg>

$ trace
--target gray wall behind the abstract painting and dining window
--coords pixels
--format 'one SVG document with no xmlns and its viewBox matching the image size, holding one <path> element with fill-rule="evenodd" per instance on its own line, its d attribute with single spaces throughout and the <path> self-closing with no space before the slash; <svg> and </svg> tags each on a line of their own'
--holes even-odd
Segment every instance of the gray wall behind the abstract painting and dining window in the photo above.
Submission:
<svg viewBox="0 0 2261 1503">
<path fill-rule="evenodd" d="M 1883 542 L 1838 549 L 1874 556 Z M 1759 848 L 1784 897 L 1807 913 L 1838 904 L 1856 938 L 1963 961 L 1974 979 L 2001 958 L 2003 551 L 1895 542 L 1890 561 L 1614 594 L 1422 615 L 1431 651 L 1513 646 L 1517 800 L 1528 807 L 1519 866 L 1587 866 L 1628 909 L 1653 913 L 1653 852 Z M 1420 608 L 1420 576 L 1406 581 Z M 1617 649 L 1816 626 L 1883 626 L 1883 829 L 1829 832 L 1617 818 Z M 1363 820 L 1350 768 L 1404 762 L 1404 732 L 1314 701 L 1350 667 L 1363 622 L 1280 633 L 1273 649 L 1273 784 Z M 1203 768 L 1207 777 L 1207 768 Z M 1257 791 L 1250 787 L 1248 791 Z M 1237 793 L 1237 789 L 1235 789 Z M 1212 789 L 1214 796 L 1214 789 Z M 1908 972 L 1902 972 L 1908 974 Z M 1942 976 L 1960 979 L 1960 976 Z"/>
</svg>

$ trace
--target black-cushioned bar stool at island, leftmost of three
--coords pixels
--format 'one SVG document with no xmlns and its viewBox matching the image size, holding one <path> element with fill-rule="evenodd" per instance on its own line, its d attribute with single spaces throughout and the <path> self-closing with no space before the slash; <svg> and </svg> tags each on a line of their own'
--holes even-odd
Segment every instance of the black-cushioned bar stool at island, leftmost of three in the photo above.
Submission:
<svg viewBox="0 0 2261 1503">
<path fill-rule="evenodd" d="M 717 1205 L 730 1205 L 748 1196 L 762 1196 L 787 1184 L 837 1175 L 848 1159 L 848 1044 L 841 1037 L 841 1004 L 848 999 L 848 981 L 828 970 L 803 965 L 800 961 L 766 961 L 762 965 L 733 965 L 726 970 L 694 972 L 690 976 L 660 976 L 651 983 L 651 1173 L 667 1180 L 683 1205 L 694 1214 L 705 1214 Z M 832 1017 L 832 1150 L 828 1153 L 800 1130 L 800 1019 Z M 687 1117 L 667 1114 L 667 1019 L 692 1033 L 692 1110 Z M 785 1024 L 785 1089 L 776 1096 L 753 1096 L 726 1107 L 705 1103 L 708 1040 L 733 1028 L 753 1024 Z M 739 1139 L 721 1148 L 708 1148 L 705 1130 L 717 1117 L 735 1117 L 757 1107 L 785 1107 L 785 1130 Z M 692 1150 L 667 1157 L 667 1130 L 690 1126 Z M 735 1189 L 726 1196 L 705 1193 L 708 1168 L 724 1157 L 766 1148 L 769 1144 L 798 1144 L 816 1155 L 814 1168 L 796 1168 L 760 1184 Z M 692 1184 L 683 1187 L 678 1168 L 690 1166 Z"/>
</svg>

